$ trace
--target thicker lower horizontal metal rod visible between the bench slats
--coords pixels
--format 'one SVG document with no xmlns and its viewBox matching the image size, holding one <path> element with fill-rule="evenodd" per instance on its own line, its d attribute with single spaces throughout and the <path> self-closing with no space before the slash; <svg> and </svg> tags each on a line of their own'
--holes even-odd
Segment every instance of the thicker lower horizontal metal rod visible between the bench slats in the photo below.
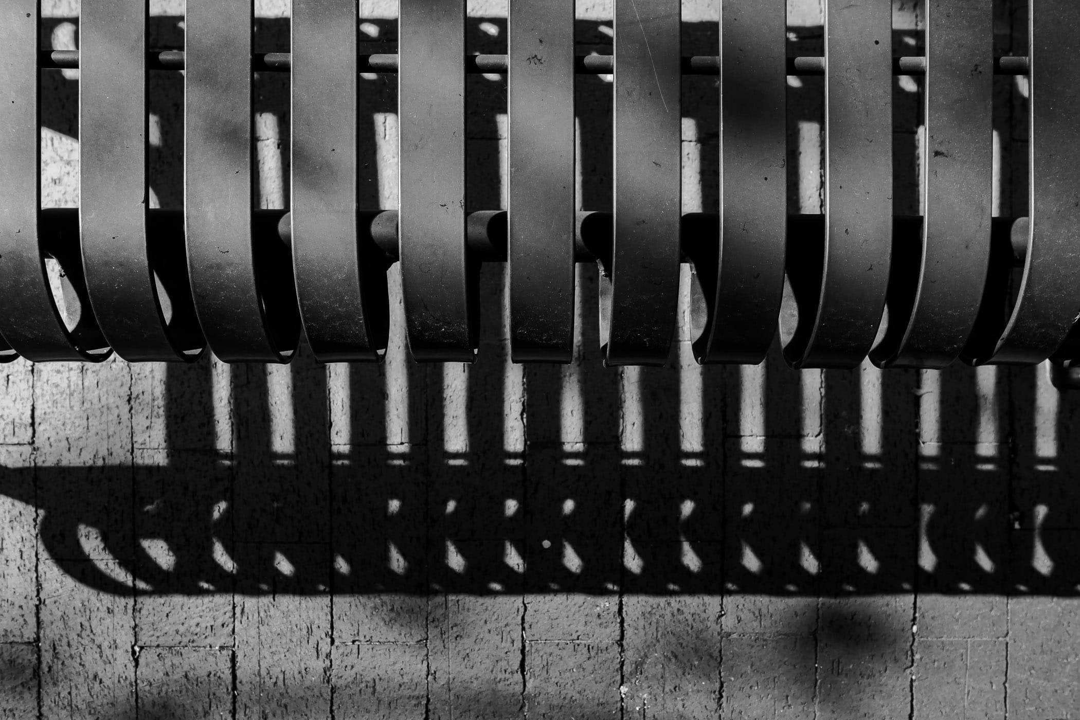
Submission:
<svg viewBox="0 0 1080 720">
<path fill-rule="evenodd" d="M 293 244 L 293 223 L 288 210 L 264 210 L 253 213 L 256 243 L 280 242 Z M 388 262 L 397 261 L 397 210 L 361 210 L 357 213 L 361 242 L 374 243 L 386 256 Z M 575 259 L 578 262 L 600 260 L 608 264 L 611 258 L 611 213 L 579 212 L 575 232 Z M 917 240 L 920 236 L 922 218 L 919 216 L 896 216 L 893 230 L 900 239 Z M 991 220 L 991 233 L 998 242 L 1008 237 L 1013 256 L 1023 264 L 1027 255 L 1028 219 L 996 217 Z M 788 215 L 787 236 L 815 236 L 824 233 L 824 215 Z M 79 240 L 79 209 L 73 207 L 41 210 L 41 231 L 46 245 L 55 240 L 63 244 Z M 715 244 L 720 236 L 720 216 L 717 213 L 686 213 L 683 215 L 680 235 L 684 255 L 693 256 L 698 248 Z M 184 212 L 151 209 L 147 213 L 147 234 L 150 242 L 156 237 L 184 237 Z M 469 256 L 480 262 L 507 261 L 507 212 L 478 210 L 470 213 L 465 219 L 465 243 Z M 608 267 L 610 267 L 608 264 Z"/>
</svg>

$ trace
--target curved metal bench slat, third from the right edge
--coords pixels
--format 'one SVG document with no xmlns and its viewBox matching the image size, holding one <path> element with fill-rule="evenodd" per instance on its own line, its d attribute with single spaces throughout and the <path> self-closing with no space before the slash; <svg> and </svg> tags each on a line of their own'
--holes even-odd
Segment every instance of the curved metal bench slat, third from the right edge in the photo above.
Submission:
<svg viewBox="0 0 1080 720">
<path fill-rule="evenodd" d="M 789 244 L 793 287 L 820 282 L 784 347 L 795 367 L 851 368 L 881 322 L 892 245 L 892 9 L 825 3 L 825 245 L 820 279 Z M 792 243 L 801 239 L 792 239 Z M 813 304 L 813 303 L 808 303 Z"/>
</svg>

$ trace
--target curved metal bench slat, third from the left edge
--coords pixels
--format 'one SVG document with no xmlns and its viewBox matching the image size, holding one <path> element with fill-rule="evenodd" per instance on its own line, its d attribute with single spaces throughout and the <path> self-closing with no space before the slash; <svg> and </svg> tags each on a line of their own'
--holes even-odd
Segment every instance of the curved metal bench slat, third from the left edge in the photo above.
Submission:
<svg viewBox="0 0 1080 720">
<path fill-rule="evenodd" d="M 199 321 L 225 362 L 285 362 L 298 337 L 295 290 L 270 277 L 279 258 L 252 234 L 252 6 L 188 0 L 185 19 L 185 220 Z"/>
</svg>

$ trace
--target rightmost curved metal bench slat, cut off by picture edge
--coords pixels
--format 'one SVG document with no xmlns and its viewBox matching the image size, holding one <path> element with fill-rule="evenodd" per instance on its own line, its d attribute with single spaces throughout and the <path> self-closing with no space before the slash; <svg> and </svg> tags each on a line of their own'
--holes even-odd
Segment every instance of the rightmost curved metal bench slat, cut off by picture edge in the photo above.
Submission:
<svg viewBox="0 0 1080 720">
<path fill-rule="evenodd" d="M 1024 279 L 994 354 L 973 356 L 973 363 L 1041 363 L 1065 341 L 1080 308 L 1080 3 L 1029 0 L 1028 11 L 1030 220 Z"/>
</svg>

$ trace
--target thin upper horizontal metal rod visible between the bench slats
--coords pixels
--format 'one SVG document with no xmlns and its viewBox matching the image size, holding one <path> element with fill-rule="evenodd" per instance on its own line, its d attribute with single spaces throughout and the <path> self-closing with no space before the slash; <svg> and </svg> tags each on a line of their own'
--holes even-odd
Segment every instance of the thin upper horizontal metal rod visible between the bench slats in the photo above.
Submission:
<svg viewBox="0 0 1080 720">
<path fill-rule="evenodd" d="M 360 55 L 361 72 L 397 72 L 397 55 L 383 53 L 377 55 Z M 507 72 L 505 55 L 468 55 L 464 58 L 465 71 L 475 73 Z M 45 70 L 78 69 L 78 50 L 46 50 L 41 53 L 41 67 Z M 183 70 L 183 50 L 152 51 L 147 58 L 147 67 L 151 70 Z M 252 56 L 252 70 L 255 72 L 289 72 L 293 67 L 293 56 L 289 53 L 258 53 Z M 893 73 L 921 76 L 927 73 L 927 58 L 919 56 L 893 58 Z M 578 74 L 611 74 L 615 72 L 615 58 L 611 55 L 579 55 L 575 62 Z M 994 74 L 1027 74 L 1027 57 L 998 57 L 994 60 Z M 683 58 L 683 74 L 718 76 L 720 58 L 715 55 L 693 55 Z M 824 57 L 788 57 L 787 74 L 823 76 L 825 74 Z"/>
</svg>

